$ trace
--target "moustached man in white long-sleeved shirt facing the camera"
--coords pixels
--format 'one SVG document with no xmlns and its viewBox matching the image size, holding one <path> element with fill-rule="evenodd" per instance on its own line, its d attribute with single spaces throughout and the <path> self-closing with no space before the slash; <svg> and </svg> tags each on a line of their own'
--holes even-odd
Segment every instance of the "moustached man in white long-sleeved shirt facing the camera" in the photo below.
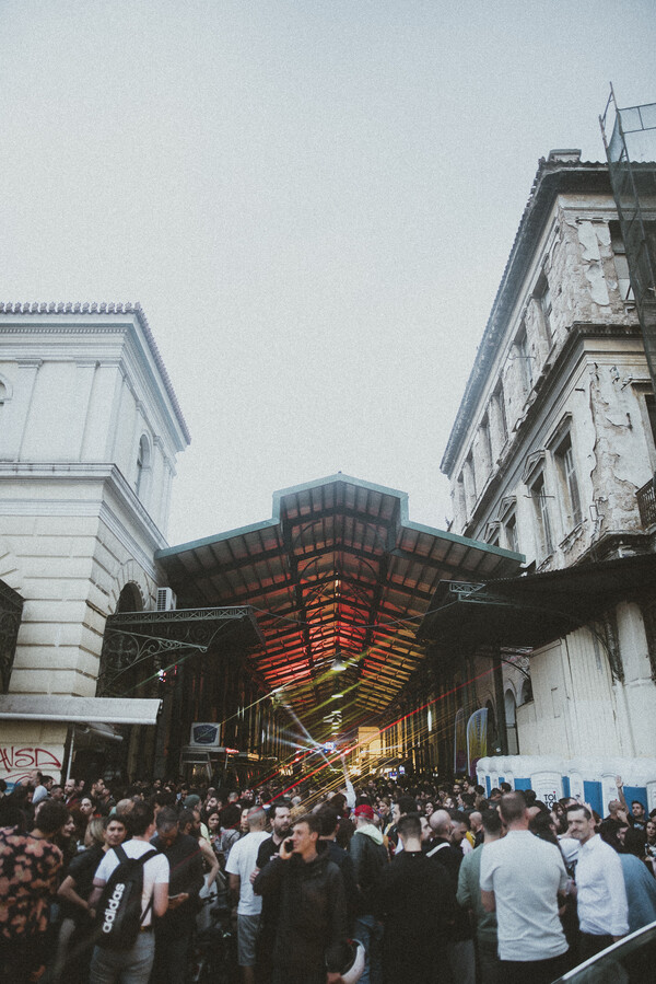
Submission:
<svg viewBox="0 0 656 984">
<path fill-rule="evenodd" d="M 629 906 L 622 863 L 595 832 L 591 810 L 567 807 L 567 834 L 579 844 L 575 891 L 583 961 L 629 933 Z"/>
</svg>

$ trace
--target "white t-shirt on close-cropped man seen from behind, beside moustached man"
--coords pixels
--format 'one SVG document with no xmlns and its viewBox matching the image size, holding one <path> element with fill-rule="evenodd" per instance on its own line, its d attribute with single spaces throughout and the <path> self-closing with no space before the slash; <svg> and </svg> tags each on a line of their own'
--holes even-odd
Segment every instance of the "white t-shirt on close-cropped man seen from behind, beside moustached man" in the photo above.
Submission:
<svg viewBox="0 0 656 984">
<path fill-rule="evenodd" d="M 555 846 L 530 831 L 508 831 L 485 844 L 481 889 L 494 892 L 500 960 L 549 960 L 567 949 L 558 893 L 567 872 Z"/>
</svg>

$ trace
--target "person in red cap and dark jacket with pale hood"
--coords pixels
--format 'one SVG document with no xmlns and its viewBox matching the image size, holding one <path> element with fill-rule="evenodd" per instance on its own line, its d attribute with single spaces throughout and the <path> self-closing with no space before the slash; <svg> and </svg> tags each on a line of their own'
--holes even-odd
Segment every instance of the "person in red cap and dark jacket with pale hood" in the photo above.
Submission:
<svg viewBox="0 0 656 984">
<path fill-rule="evenodd" d="M 355 833 L 349 852 L 353 861 L 358 896 L 353 936 L 363 945 L 366 964 L 361 984 L 380 984 L 383 964 L 380 958 L 382 931 L 374 916 L 374 901 L 378 880 L 388 864 L 383 834 L 374 824 L 374 811 L 368 803 L 355 807 Z"/>
</svg>

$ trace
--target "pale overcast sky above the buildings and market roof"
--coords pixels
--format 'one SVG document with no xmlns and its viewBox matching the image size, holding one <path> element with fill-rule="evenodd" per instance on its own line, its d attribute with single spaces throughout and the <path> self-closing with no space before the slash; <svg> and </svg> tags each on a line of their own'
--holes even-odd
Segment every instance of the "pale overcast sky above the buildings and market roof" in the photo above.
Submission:
<svg viewBox="0 0 656 984">
<path fill-rule="evenodd" d="M 5 301 L 140 301 L 167 540 L 440 462 L 538 160 L 656 101 L 653 0 L 0 0 Z"/>
</svg>

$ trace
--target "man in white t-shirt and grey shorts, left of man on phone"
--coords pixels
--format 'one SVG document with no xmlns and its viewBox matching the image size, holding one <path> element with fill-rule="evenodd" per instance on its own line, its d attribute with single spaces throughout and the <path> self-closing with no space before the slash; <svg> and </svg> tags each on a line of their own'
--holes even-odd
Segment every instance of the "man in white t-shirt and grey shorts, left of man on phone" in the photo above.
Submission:
<svg viewBox="0 0 656 984">
<path fill-rule="evenodd" d="M 262 900 L 253 891 L 250 876 L 257 868 L 257 853 L 262 841 L 269 838 L 265 830 L 267 812 L 262 807 L 254 807 L 248 811 L 248 829 L 250 833 L 236 841 L 231 848 L 226 875 L 230 877 L 230 890 L 237 904 L 237 961 L 242 968 L 244 984 L 255 984 L 256 940 L 259 929 Z"/>
</svg>

